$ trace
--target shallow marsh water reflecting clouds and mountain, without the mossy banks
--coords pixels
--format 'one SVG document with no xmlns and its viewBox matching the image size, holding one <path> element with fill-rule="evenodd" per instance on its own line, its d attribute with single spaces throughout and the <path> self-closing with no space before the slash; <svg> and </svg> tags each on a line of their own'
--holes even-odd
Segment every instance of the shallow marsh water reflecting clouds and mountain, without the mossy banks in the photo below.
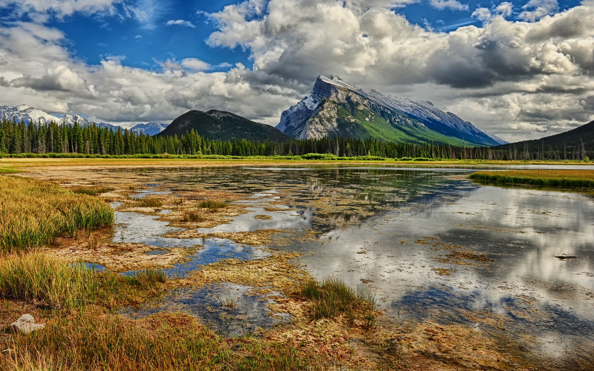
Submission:
<svg viewBox="0 0 594 371">
<path fill-rule="evenodd" d="M 384 321 L 464 324 L 491 334 L 527 365 L 594 368 L 593 193 L 482 185 L 466 179 L 476 168 L 458 167 L 111 171 L 145 176 L 138 196 L 196 188 L 245 195 L 235 202 L 248 205 L 248 213 L 198 232 L 312 231 L 310 239 L 274 248 L 304 253 L 295 264 L 314 277 L 336 276 L 376 290 Z M 266 211 L 266 202 L 275 211 Z M 254 218 L 262 214 L 271 218 Z M 227 239 L 162 237 L 179 228 L 152 215 L 116 217 L 117 242 L 203 245 L 172 274 L 220 259 L 270 255 L 267 246 Z M 183 307 L 229 335 L 290 321 L 270 313 L 269 297 L 248 293 L 245 286 L 211 285 L 142 313 Z M 223 310 L 228 297 L 233 310 Z"/>
</svg>

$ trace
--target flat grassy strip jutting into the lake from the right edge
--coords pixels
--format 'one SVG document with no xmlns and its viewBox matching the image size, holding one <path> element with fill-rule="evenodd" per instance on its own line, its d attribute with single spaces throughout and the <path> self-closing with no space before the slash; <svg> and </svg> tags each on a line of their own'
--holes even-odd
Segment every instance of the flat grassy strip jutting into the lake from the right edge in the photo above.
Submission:
<svg viewBox="0 0 594 371">
<path fill-rule="evenodd" d="M 470 179 L 497 184 L 523 184 L 560 188 L 594 187 L 594 170 L 506 170 L 476 172 Z"/>
</svg>

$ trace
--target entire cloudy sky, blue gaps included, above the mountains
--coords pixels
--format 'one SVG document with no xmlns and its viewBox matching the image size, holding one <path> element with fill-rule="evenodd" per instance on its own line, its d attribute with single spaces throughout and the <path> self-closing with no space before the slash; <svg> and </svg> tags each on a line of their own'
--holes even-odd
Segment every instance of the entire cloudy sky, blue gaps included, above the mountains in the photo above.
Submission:
<svg viewBox="0 0 594 371">
<path fill-rule="evenodd" d="M 276 125 L 318 75 L 555 134 L 594 119 L 594 0 L 0 0 L 0 105 Z"/>
</svg>

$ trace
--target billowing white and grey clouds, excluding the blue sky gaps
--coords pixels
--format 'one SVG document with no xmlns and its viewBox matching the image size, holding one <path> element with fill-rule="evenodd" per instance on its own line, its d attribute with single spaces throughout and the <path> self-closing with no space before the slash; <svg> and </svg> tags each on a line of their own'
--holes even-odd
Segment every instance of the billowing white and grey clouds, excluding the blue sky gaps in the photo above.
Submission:
<svg viewBox="0 0 594 371">
<path fill-rule="evenodd" d="M 549 16 L 527 21 L 506 20 L 513 7 L 503 2 L 476 9 L 482 27 L 450 33 L 411 24 L 393 10 L 410 2 L 228 5 L 208 15 L 217 31 L 207 42 L 241 47 L 253 61 L 251 69 L 236 64 L 228 72 L 214 72 L 222 65 L 200 58 L 157 62 L 160 71 L 124 66 L 118 58 L 86 65 L 65 49 L 61 31 L 14 23 L 0 28 L 4 104 L 124 124 L 167 122 L 189 109 L 229 110 L 276 124 L 317 75 L 336 74 L 367 90 L 431 100 L 507 139 L 594 119 L 593 2 L 556 14 L 549 7 Z M 544 4 L 531 3 L 523 11 Z"/>
</svg>

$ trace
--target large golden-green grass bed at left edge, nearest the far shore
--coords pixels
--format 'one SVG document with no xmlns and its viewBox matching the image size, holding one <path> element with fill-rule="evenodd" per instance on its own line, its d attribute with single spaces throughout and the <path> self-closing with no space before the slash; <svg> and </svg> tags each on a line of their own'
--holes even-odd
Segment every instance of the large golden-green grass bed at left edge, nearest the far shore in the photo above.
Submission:
<svg viewBox="0 0 594 371">
<path fill-rule="evenodd" d="M 0 251 L 41 248 L 58 236 L 113 224 L 112 208 L 42 180 L 0 176 Z"/>
</svg>

